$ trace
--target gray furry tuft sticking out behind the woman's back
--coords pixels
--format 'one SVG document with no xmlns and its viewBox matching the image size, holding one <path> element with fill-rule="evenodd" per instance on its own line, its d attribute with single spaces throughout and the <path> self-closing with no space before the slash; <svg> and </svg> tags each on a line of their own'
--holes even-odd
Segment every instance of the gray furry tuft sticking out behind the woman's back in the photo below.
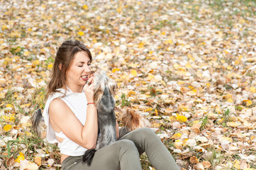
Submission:
<svg viewBox="0 0 256 170">
<path fill-rule="evenodd" d="M 41 135 L 41 125 L 43 125 L 43 115 L 42 110 L 38 108 L 32 116 L 32 129 L 38 136 Z"/>
</svg>

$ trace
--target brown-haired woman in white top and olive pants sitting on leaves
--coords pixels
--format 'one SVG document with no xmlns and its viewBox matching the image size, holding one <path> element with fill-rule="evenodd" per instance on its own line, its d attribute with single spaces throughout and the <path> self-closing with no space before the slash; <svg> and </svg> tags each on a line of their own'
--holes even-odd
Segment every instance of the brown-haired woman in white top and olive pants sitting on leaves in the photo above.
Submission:
<svg viewBox="0 0 256 170">
<path fill-rule="evenodd" d="M 179 169 L 150 128 L 134 130 L 97 150 L 91 166 L 82 163 L 82 155 L 87 149 L 95 148 L 98 135 L 94 77 L 89 76 L 91 60 L 91 52 L 78 40 L 63 42 L 55 57 L 43 116 L 48 126 L 48 142 L 57 142 L 60 147 L 62 169 L 142 169 L 142 152 L 148 155 L 155 169 Z"/>
</svg>

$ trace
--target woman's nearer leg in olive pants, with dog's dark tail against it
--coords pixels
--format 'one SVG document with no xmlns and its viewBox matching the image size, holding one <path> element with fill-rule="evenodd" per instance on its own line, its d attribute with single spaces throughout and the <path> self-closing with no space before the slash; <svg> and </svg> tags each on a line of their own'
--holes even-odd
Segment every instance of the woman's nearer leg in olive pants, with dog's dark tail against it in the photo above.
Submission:
<svg viewBox="0 0 256 170">
<path fill-rule="evenodd" d="M 67 164 L 69 162 L 69 164 Z M 74 162 L 77 162 L 74 163 Z M 77 160 L 67 158 L 62 163 L 62 169 L 104 169 L 104 170 L 141 170 L 140 156 L 135 144 L 130 140 L 121 140 L 97 150 L 91 166 L 82 163 L 82 157 Z"/>
</svg>

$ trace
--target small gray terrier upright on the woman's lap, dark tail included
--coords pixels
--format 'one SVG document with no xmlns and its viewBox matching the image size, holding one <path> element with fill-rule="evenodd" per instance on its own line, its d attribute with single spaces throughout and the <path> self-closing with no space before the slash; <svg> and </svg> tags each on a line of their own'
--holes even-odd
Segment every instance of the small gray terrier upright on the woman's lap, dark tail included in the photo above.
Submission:
<svg viewBox="0 0 256 170">
<path fill-rule="evenodd" d="M 83 162 L 91 165 L 92 159 L 97 149 L 106 147 L 116 142 L 116 114 L 114 90 L 117 85 L 106 75 L 106 72 L 96 74 L 94 78 L 94 103 L 98 113 L 99 134 L 95 149 L 89 149 L 84 153 Z"/>
</svg>

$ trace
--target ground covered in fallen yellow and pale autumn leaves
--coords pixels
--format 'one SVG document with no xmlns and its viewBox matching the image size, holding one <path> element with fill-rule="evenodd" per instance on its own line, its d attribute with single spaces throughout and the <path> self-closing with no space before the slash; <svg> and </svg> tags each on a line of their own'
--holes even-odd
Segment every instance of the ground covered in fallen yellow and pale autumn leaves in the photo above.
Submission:
<svg viewBox="0 0 256 170">
<path fill-rule="evenodd" d="M 117 118 L 145 115 L 183 169 L 256 169 L 255 1 L 0 2 L 0 169 L 61 169 L 30 117 L 70 39 L 118 83 Z"/>
</svg>

